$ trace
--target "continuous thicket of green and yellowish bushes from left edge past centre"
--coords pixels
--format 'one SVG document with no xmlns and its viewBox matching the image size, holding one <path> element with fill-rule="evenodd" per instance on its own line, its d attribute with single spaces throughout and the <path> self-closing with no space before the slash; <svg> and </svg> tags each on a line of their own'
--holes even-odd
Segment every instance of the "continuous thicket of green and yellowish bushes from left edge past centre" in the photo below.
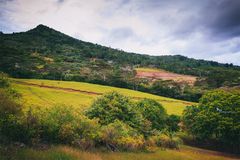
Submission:
<svg viewBox="0 0 240 160">
<path fill-rule="evenodd" d="M 112 151 L 151 152 L 156 146 L 179 147 L 180 141 L 175 136 L 161 132 L 163 128 L 154 130 L 151 127 L 151 121 L 156 126 L 165 121 L 165 118 L 158 118 L 159 121 L 155 122 L 152 117 L 167 117 L 164 109 L 155 101 L 143 100 L 140 103 L 155 105 L 148 106 L 149 111 L 152 108 L 150 115 L 139 110 L 140 106 L 137 107 L 135 102 L 116 92 L 96 100 L 86 115 L 74 107 L 60 104 L 24 109 L 20 96 L 12 92 L 5 75 L 0 78 L 1 82 L 8 85 L 0 88 L 0 144 L 68 144 L 84 150 L 105 147 Z"/>
</svg>

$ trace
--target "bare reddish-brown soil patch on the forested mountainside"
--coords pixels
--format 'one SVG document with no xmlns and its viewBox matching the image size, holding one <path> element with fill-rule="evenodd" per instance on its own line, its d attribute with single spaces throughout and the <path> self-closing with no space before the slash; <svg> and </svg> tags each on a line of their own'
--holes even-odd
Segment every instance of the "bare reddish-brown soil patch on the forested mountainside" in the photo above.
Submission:
<svg viewBox="0 0 240 160">
<path fill-rule="evenodd" d="M 195 83 L 196 79 L 197 79 L 197 77 L 194 77 L 194 76 L 176 74 L 176 73 L 171 73 L 171 72 L 167 72 L 167 71 L 164 71 L 164 70 L 159 70 L 159 71 L 137 70 L 136 77 L 147 78 L 147 79 L 150 79 L 150 80 L 157 80 L 157 79 L 173 80 L 173 81 L 176 81 L 176 82 L 188 83 L 190 85 L 193 85 Z"/>
</svg>

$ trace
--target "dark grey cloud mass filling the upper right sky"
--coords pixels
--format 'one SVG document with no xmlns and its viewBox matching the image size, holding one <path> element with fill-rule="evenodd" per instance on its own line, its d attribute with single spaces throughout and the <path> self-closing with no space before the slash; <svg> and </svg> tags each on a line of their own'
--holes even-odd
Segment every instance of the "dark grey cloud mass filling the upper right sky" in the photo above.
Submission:
<svg viewBox="0 0 240 160">
<path fill-rule="evenodd" d="M 176 28 L 171 31 L 175 36 L 189 36 L 199 31 L 213 40 L 224 40 L 240 35 L 239 0 L 131 2 L 139 12 L 153 12 L 160 24 L 175 25 Z M 181 19 L 181 23 L 176 24 L 178 19 Z"/>
</svg>

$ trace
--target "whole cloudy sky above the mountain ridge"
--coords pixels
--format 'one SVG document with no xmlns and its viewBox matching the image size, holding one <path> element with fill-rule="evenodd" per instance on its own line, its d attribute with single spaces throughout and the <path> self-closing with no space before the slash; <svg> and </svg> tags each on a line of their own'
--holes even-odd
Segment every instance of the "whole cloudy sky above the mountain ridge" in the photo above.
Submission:
<svg viewBox="0 0 240 160">
<path fill-rule="evenodd" d="M 0 0 L 0 31 L 39 24 L 128 52 L 240 65 L 240 0 Z"/>
</svg>

